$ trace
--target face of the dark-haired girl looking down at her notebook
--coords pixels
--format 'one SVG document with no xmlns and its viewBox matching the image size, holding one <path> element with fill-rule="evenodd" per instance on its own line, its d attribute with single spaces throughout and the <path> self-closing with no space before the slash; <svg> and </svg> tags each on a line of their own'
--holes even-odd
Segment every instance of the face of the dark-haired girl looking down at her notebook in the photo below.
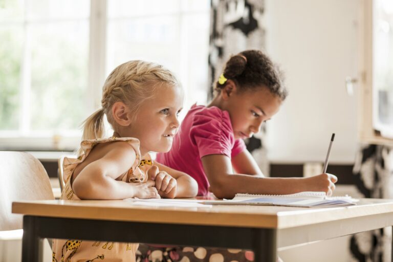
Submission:
<svg viewBox="0 0 393 262">
<path fill-rule="evenodd" d="M 267 88 L 244 92 L 234 90 L 227 97 L 225 110 L 230 115 L 235 139 L 250 138 L 258 133 L 262 124 L 278 112 L 281 102 Z"/>
</svg>

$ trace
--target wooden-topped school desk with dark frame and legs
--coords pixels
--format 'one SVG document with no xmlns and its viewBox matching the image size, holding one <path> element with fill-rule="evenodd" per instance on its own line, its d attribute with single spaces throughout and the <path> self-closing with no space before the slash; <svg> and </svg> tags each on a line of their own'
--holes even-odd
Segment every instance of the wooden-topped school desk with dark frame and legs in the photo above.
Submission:
<svg viewBox="0 0 393 262">
<path fill-rule="evenodd" d="M 12 212 L 25 215 L 24 262 L 38 261 L 45 237 L 252 249 L 255 261 L 273 262 L 277 248 L 393 225 L 393 200 L 381 199 L 337 208 L 164 208 L 51 200 L 14 202 Z"/>
</svg>

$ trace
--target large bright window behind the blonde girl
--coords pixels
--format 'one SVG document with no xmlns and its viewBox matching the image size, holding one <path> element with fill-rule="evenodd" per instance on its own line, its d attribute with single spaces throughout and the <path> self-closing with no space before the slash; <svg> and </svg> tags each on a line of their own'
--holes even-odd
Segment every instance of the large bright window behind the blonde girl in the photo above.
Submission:
<svg viewBox="0 0 393 262">
<path fill-rule="evenodd" d="M 165 65 L 207 99 L 208 0 L 0 2 L 0 149 L 71 149 L 120 63 Z M 4 40 L 3 40 L 4 39 Z M 184 113 L 183 113 L 184 114 Z"/>
</svg>

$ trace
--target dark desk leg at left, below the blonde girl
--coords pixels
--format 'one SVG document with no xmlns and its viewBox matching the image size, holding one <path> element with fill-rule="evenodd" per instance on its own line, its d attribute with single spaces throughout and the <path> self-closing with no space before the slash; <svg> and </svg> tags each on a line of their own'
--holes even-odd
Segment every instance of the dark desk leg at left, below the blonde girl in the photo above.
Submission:
<svg viewBox="0 0 393 262">
<path fill-rule="evenodd" d="M 22 262 L 42 261 L 42 239 L 37 234 L 37 226 L 35 217 L 23 217 Z"/>
</svg>

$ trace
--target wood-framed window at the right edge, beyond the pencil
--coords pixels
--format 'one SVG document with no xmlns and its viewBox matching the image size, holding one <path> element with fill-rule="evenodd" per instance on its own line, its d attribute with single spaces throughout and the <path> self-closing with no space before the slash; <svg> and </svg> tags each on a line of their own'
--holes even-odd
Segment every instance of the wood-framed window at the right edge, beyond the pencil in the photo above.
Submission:
<svg viewBox="0 0 393 262">
<path fill-rule="evenodd" d="M 359 96 L 359 137 L 363 143 L 393 145 L 391 1 L 364 2 L 364 46 Z M 390 73 L 389 73 L 390 72 Z"/>
</svg>

